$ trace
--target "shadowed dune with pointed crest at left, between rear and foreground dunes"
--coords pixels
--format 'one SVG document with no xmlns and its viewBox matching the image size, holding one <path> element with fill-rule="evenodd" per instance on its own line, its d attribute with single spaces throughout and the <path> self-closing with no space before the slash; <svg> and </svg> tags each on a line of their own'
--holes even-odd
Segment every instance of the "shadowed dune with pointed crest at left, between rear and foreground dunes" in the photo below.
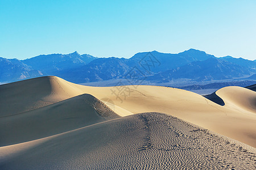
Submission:
<svg viewBox="0 0 256 170">
<path fill-rule="evenodd" d="M 84 94 L 33 111 L 0 118 L 0 146 L 48 137 L 119 117 Z"/>
</svg>

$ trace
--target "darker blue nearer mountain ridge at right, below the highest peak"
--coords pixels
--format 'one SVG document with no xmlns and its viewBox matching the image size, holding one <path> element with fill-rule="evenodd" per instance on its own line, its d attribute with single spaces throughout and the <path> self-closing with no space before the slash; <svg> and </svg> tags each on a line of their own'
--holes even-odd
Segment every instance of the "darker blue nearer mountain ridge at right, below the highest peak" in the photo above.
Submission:
<svg viewBox="0 0 256 170">
<path fill-rule="evenodd" d="M 254 70 L 249 67 L 240 66 L 218 58 L 208 58 L 205 61 L 195 61 L 181 66 L 177 69 L 164 71 L 163 73 L 150 76 L 150 80 L 162 77 L 166 79 L 191 79 L 200 81 L 224 80 L 240 78 L 251 75 Z"/>
</svg>

